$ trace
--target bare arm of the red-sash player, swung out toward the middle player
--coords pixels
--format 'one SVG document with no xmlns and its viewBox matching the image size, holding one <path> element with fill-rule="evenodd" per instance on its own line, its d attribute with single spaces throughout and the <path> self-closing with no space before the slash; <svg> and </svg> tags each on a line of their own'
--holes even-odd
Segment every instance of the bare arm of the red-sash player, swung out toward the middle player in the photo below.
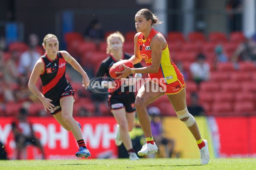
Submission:
<svg viewBox="0 0 256 170">
<path fill-rule="evenodd" d="M 60 51 L 60 52 L 63 55 L 64 59 L 68 63 L 70 63 L 70 65 L 82 75 L 83 87 L 85 87 L 85 89 L 87 89 L 87 86 L 90 83 L 90 79 L 89 79 L 87 73 L 84 71 L 84 69 L 81 67 L 81 65 L 76 61 L 76 59 L 74 59 L 67 51 Z"/>
</svg>

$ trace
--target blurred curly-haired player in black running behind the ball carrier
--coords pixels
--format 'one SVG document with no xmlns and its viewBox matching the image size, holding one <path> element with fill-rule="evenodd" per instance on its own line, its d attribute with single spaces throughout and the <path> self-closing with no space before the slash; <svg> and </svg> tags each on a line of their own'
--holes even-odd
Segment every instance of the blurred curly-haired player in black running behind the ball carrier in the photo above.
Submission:
<svg viewBox="0 0 256 170">
<path fill-rule="evenodd" d="M 108 36 L 107 54 L 110 54 L 110 56 L 102 61 L 99 67 L 99 70 L 96 74 L 96 77 L 102 77 L 105 74 L 107 75 L 107 77 L 110 77 L 109 69 L 111 68 L 113 63 L 119 61 L 120 59 L 131 58 L 130 54 L 124 53 L 122 51 L 124 41 L 125 39 L 123 35 L 118 31 Z M 134 67 L 141 68 L 142 65 L 139 63 L 134 65 Z M 142 77 L 142 74 L 136 74 L 135 77 L 137 78 Z M 107 87 L 108 91 L 110 92 L 108 96 L 109 107 L 116 119 L 116 122 L 118 123 L 115 142 L 117 146 L 121 145 L 122 143 L 124 144 L 129 154 L 129 158 L 131 160 L 138 160 L 139 158 L 137 154 L 134 152 L 134 149 L 131 143 L 131 137 L 129 135 L 129 131 L 131 131 L 134 126 L 134 117 L 135 117 L 134 92 L 132 88 L 129 88 L 128 86 L 125 86 L 122 89 L 120 81 L 116 81 L 116 82 L 117 82 L 116 85 L 115 85 L 115 82 L 113 81 L 109 82 L 111 84 L 108 84 L 107 82 L 104 82 L 104 81 L 102 81 L 101 83 L 103 86 Z M 114 88 L 111 89 L 111 86 Z M 113 89 L 115 90 L 113 91 Z"/>
</svg>

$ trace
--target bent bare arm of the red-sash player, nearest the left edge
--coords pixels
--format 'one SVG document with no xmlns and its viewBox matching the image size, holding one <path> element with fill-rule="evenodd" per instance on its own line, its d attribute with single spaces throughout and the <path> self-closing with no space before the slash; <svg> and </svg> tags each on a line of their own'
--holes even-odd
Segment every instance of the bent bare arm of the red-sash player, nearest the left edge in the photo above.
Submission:
<svg viewBox="0 0 256 170">
<path fill-rule="evenodd" d="M 35 85 L 42 73 L 44 73 L 44 62 L 41 59 L 38 59 L 29 78 L 29 89 L 39 100 L 41 100 L 44 105 L 44 110 L 47 111 L 55 108 L 55 106 L 50 103 L 52 100 L 45 98 Z"/>
</svg>

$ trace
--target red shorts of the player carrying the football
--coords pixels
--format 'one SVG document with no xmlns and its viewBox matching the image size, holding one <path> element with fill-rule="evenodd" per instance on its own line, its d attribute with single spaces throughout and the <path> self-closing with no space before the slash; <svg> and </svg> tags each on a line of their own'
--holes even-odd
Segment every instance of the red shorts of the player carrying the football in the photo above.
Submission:
<svg viewBox="0 0 256 170">
<path fill-rule="evenodd" d="M 175 82 L 172 82 L 170 84 L 166 84 L 164 82 L 159 82 L 159 79 L 156 78 L 150 78 L 148 77 L 146 81 L 151 81 L 154 82 L 156 84 L 158 84 L 161 88 L 163 88 L 163 93 L 164 94 L 177 94 L 179 93 L 183 88 L 186 88 L 186 84 L 183 78 L 178 79 Z"/>
</svg>

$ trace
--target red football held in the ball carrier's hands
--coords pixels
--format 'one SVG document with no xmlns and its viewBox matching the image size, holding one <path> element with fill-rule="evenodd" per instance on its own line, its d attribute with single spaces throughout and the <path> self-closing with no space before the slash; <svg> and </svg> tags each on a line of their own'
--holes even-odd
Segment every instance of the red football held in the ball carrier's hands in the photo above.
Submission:
<svg viewBox="0 0 256 170">
<path fill-rule="evenodd" d="M 112 65 L 112 67 L 109 70 L 109 74 L 112 78 L 116 79 L 116 77 L 119 77 L 122 74 L 116 74 L 116 72 L 123 71 L 125 68 L 123 68 L 122 64 L 124 64 L 126 67 L 133 68 L 133 63 L 131 60 L 123 59 L 120 60 Z"/>
</svg>

